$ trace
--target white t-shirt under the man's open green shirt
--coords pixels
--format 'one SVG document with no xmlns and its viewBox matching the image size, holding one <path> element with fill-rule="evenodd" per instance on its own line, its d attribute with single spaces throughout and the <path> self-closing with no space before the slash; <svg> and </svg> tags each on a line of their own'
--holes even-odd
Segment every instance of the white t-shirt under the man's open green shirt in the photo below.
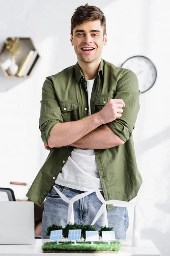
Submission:
<svg viewBox="0 0 170 256">
<path fill-rule="evenodd" d="M 87 80 L 88 116 L 91 115 L 90 102 L 93 84 L 94 79 Z M 65 165 L 62 167 L 62 172 L 59 173 L 55 183 L 81 191 L 94 189 L 95 184 L 98 189 L 102 190 L 94 150 L 74 148 Z"/>
</svg>

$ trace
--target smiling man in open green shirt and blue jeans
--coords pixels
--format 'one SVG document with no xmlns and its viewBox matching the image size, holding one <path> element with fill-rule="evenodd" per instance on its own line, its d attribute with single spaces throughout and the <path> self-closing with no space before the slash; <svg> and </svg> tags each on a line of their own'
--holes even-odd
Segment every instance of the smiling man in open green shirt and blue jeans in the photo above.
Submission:
<svg viewBox="0 0 170 256">
<path fill-rule="evenodd" d="M 42 87 L 39 128 L 50 153 L 27 193 L 41 205 L 42 238 L 51 224 L 65 227 L 66 197 L 97 187 L 105 200 L 130 201 L 142 183 L 132 131 L 139 111 L 138 80 L 128 69 L 102 59 L 107 44 L 105 16 L 96 6 L 79 6 L 71 18 L 77 64 L 48 76 Z M 74 202 L 74 221 L 91 224 L 102 203 L 96 193 Z M 125 207 L 107 206 L 108 225 L 125 239 Z M 102 225 L 102 217 L 94 225 Z"/>
</svg>

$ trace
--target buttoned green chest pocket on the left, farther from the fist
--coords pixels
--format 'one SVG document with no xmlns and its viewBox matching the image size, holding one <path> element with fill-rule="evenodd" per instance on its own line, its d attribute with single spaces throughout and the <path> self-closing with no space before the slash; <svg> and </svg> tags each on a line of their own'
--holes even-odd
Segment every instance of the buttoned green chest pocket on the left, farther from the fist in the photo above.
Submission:
<svg viewBox="0 0 170 256">
<path fill-rule="evenodd" d="M 64 122 L 77 121 L 78 103 L 59 102 Z"/>
</svg>

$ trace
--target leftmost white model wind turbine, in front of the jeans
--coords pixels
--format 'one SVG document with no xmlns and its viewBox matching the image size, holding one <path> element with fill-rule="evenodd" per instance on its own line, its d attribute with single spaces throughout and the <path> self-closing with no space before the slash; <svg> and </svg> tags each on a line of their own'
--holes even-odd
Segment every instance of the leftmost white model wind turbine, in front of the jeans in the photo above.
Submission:
<svg viewBox="0 0 170 256">
<path fill-rule="evenodd" d="M 59 191 L 59 189 L 57 189 L 55 186 L 53 186 L 54 189 L 57 191 L 57 193 L 59 194 L 59 196 L 62 198 L 63 201 L 65 201 L 66 203 L 68 203 L 68 218 L 67 218 L 67 223 L 71 223 L 74 224 L 74 208 L 73 208 L 73 203 L 83 197 L 85 197 L 86 195 L 90 195 L 91 193 L 93 193 L 95 191 L 95 189 L 91 189 L 88 192 L 79 194 L 79 195 L 75 195 L 73 198 L 68 199 L 64 194 L 62 194 L 61 191 Z"/>
</svg>

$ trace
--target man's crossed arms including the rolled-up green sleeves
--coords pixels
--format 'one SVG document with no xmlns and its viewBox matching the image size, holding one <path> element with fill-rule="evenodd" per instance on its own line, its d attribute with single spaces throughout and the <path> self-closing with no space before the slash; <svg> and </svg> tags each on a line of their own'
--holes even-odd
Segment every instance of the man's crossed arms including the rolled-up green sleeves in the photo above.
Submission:
<svg viewBox="0 0 170 256">
<path fill-rule="evenodd" d="M 59 105 L 54 103 L 53 87 L 52 81 L 46 79 L 42 87 L 39 125 L 42 140 L 49 148 L 64 145 L 111 148 L 124 144 L 130 138 L 139 111 L 140 95 L 138 80 L 132 71 L 127 71 L 119 79 L 114 99 L 109 100 L 101 111 L 74 122 L 59 120 L 61 114 Z M 48 107 L 45 105 L 47 97 Z"/>
</svg>

